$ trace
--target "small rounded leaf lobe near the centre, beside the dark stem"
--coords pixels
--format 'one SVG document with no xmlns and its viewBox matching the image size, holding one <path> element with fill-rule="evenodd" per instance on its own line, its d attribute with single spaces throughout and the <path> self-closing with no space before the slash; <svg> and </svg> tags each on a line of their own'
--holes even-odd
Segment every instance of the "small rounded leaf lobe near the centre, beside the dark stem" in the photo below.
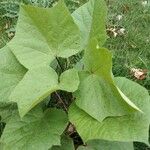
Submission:
<svg viewBox="0 0 150 150">
<path fill-rule="evenodd" d="M 60 76 L 59 88 L 68 92 L 75 92 L 79 86 L 79 76 L 76 69 L 69 69 Z"/>
</svg>

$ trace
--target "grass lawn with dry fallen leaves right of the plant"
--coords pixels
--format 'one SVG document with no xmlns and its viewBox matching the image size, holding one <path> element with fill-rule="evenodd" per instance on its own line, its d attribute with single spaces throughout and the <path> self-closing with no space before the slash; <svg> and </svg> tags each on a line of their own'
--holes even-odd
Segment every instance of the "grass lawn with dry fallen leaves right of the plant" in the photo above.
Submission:
<svg viewBox="0 0 150 150">
<path fill-rule="evenodd" d="M 107 0 L 107 3 L 107 29 L 114 33 L 109 33 L 105 46 L 113 52 L 113 72 L 136 80 L 150 92 L 150 1 Z M 134 68 L 146 71 L 145 78 L 135 77 Z"/>
</svg>

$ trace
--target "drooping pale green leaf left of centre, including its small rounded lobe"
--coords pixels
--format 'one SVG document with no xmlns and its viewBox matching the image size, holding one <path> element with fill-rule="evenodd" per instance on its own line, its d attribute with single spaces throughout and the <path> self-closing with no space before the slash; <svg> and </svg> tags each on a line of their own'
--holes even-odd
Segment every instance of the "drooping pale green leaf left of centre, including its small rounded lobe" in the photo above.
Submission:
<svg viewBox="0 0 150 150">
<path fill-rule="evenodd" d="M 73 86 L 71 86 L 71 78 Z M 18 104 L 19 114 L 23 117 L 28 111 L 56 90 L 74 92 L 79 85 L 78 73 L 70 69 L 62 73 L 60 83 L 55 70 L 38 67 L 29 70 L 10 95 L 10 101 Z M 70 87 L 71 86 L 71 87 Z M 70 88 L 69 88 L 70 87 Z"/>
</svg>

